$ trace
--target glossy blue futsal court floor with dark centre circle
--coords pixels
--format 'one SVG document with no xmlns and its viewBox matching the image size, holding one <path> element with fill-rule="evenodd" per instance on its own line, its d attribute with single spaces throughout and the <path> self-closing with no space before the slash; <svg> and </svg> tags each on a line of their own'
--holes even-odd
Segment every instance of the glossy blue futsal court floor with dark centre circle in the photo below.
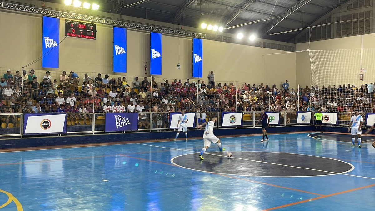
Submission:
<svg viewBox="0 0 375 211">
<path fill-rule="evenodd" d="M 0 153 L 0 210 L 374 210 L 374 136 L 292 133 Z"/>
</svg>

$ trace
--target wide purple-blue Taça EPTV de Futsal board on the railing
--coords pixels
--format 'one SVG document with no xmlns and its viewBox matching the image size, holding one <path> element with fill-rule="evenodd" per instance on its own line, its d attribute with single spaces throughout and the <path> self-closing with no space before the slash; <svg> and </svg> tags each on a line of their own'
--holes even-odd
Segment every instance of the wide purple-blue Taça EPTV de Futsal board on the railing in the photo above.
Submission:
<svg viewBox="0 0 375 211">
<path fill-rule="evenodd" d="M 105 132 L 138 130 L 138 113 L 105 113 Z"/>
</svg>

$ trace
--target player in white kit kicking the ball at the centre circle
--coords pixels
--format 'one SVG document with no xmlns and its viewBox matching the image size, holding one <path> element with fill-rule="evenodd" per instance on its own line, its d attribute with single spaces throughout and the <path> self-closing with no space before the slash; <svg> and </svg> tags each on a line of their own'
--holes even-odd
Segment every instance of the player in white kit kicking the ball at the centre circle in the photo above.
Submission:
<svg viewBox="0 0 375 211">
<path fill-rule="evenodd" d="M 213 117 L 211 121 L 204 122 L 202 125 L 199 125 L 198 128 L 204 127 L 203 133 L 203 143 L 204 147 L 201 150 L 201 154 L 199 154 L 199 159 L 203 160 L 203 153 L 207 150 L 208 147 L 211 146 L 212 143 L 217 143 L 220 152 L 224 151 L 225 148 L 220 143 L 220 139 L 213 134 L 213 127 L 215 125 L 216 117 Z"/>
</svg>

